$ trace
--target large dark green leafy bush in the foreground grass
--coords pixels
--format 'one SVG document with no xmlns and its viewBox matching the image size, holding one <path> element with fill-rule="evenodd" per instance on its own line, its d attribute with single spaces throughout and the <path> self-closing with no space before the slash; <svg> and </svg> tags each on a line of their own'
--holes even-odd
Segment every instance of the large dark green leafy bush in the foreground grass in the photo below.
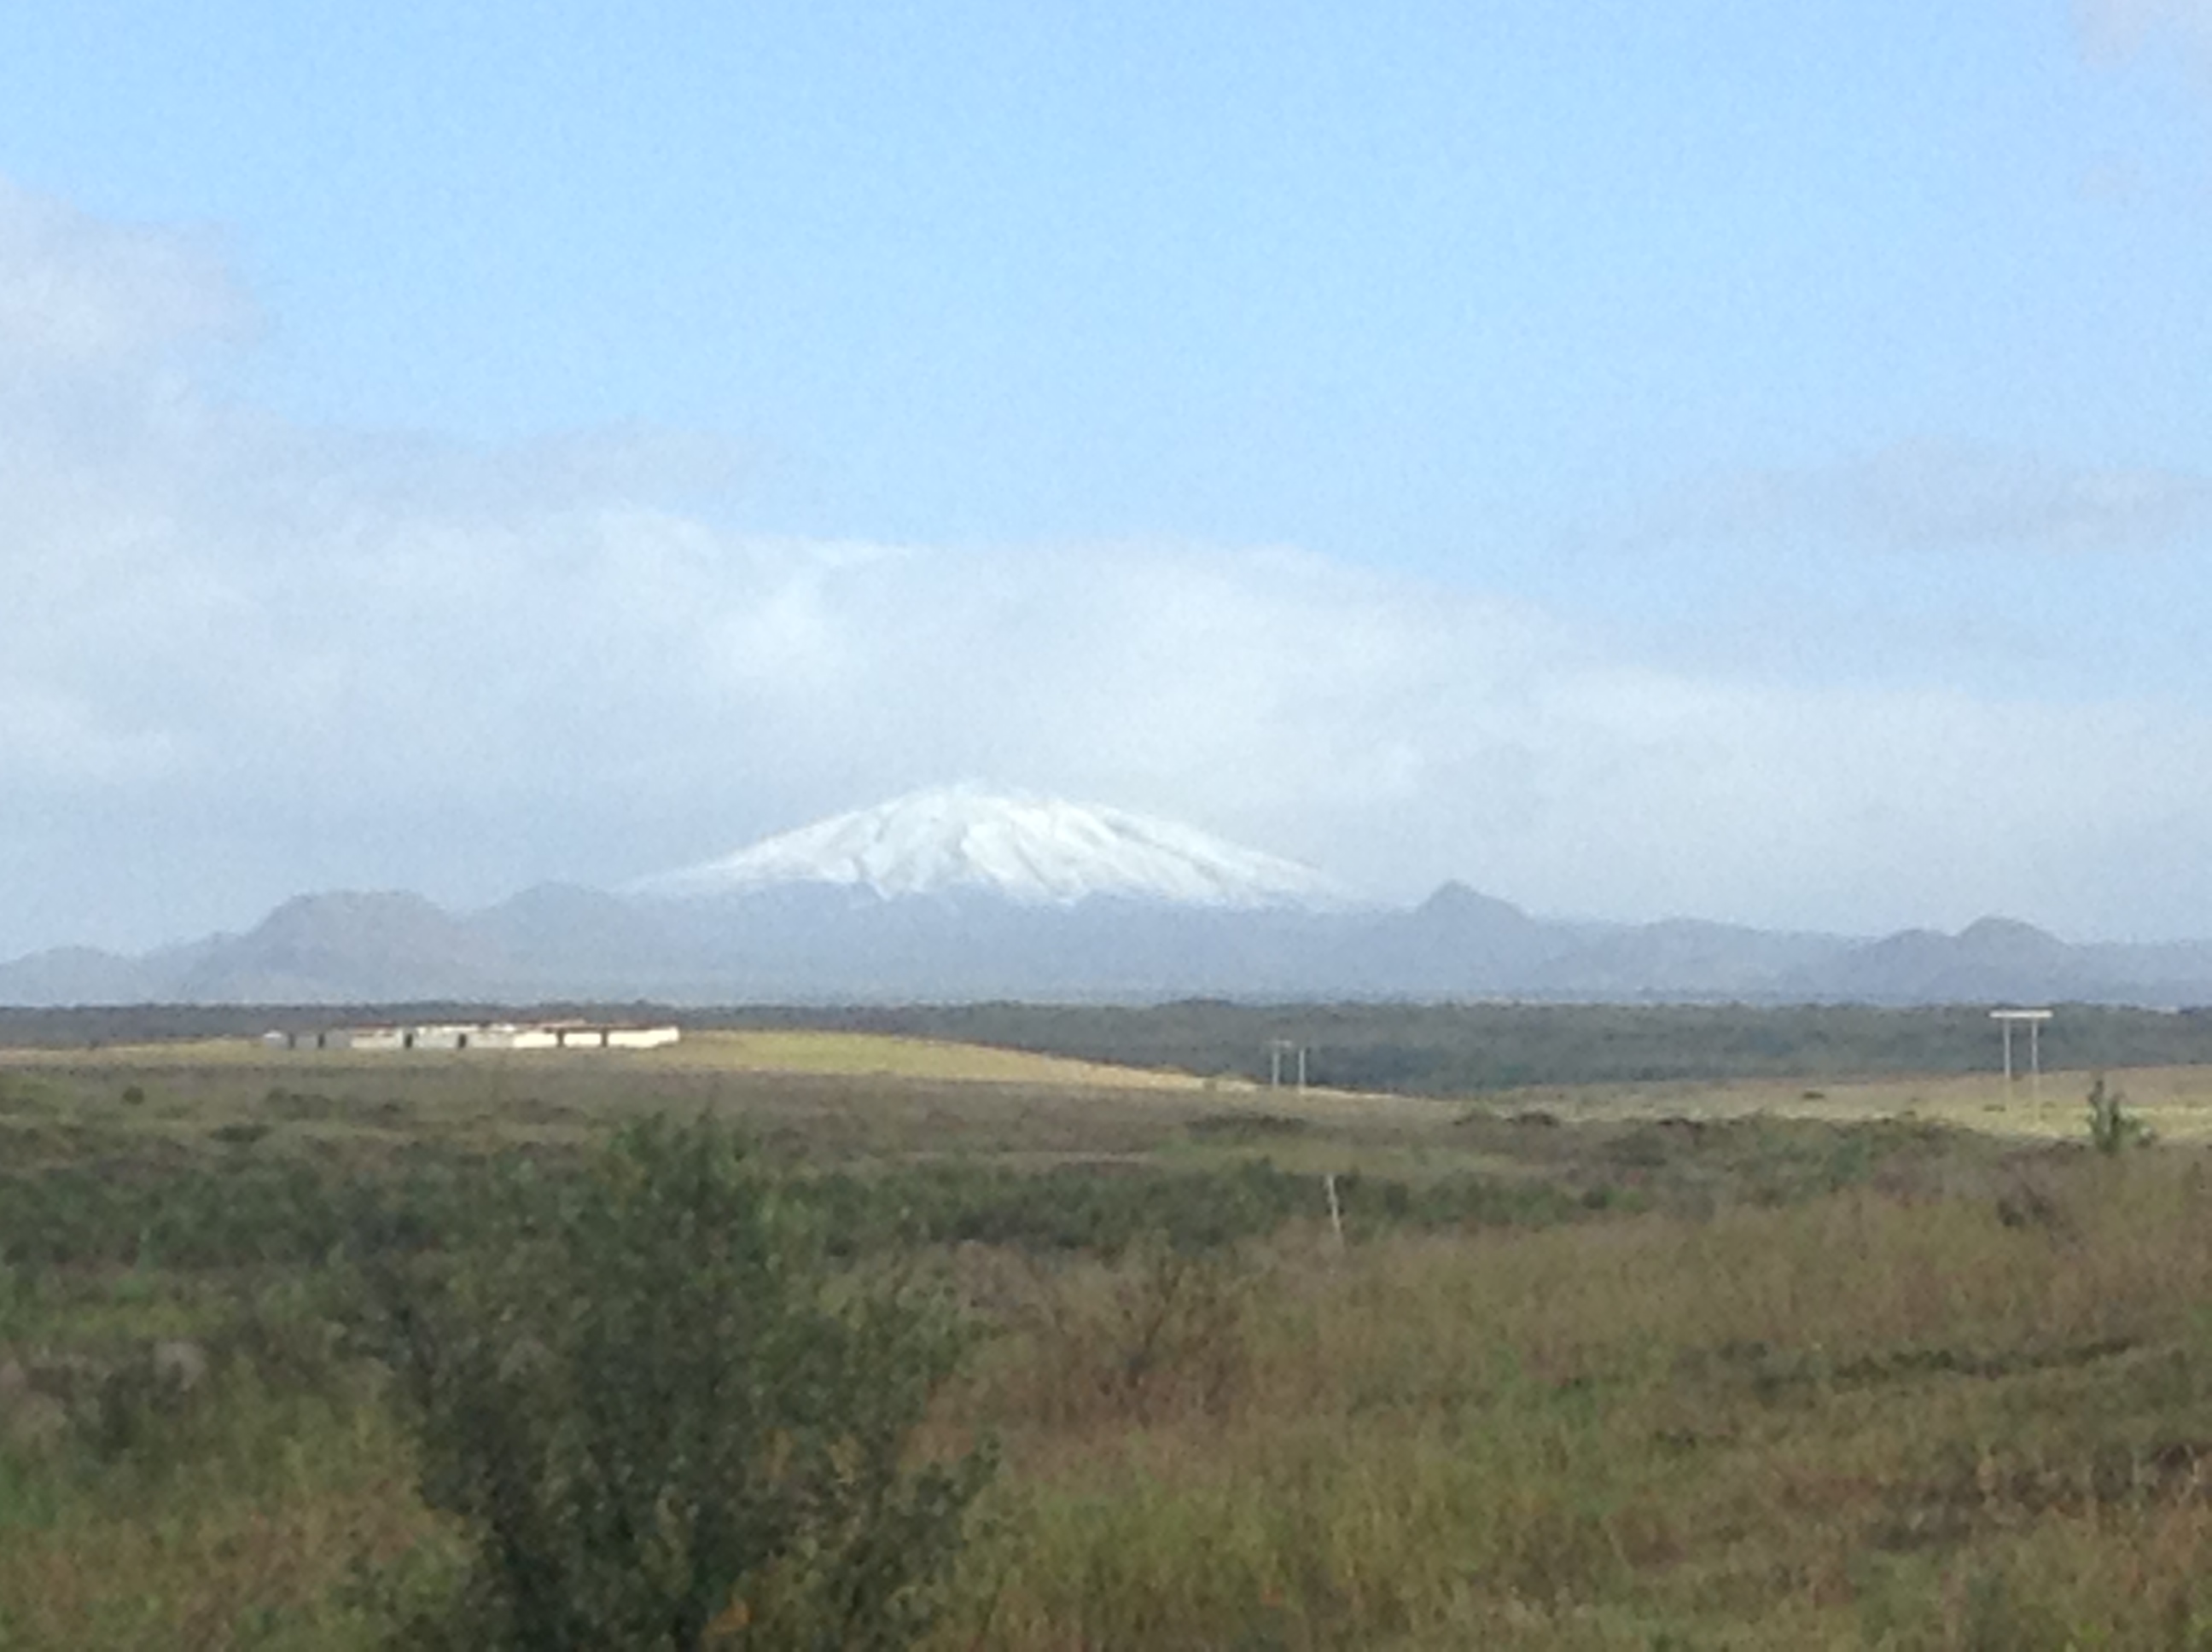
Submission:
<svg viewBox="0 0 2212 1652">
<path fill-rule="evenodd" d="M 911 1462 L 962 1336 L 825 1269 L 712 1121 L 622 1132 L 498 1190 L 451 1256 L 383 1278 L 451 1590 L 407 1645 L 894 1648 L 929 1623 L 982 1455 Z"/>
</svg>

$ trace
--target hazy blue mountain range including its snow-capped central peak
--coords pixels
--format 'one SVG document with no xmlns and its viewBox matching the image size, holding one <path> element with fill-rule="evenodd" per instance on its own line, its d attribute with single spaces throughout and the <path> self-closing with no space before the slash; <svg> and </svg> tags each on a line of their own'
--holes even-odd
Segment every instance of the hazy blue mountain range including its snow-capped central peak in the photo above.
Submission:
<svg viewBox="0 0 2212 1652">
<path fill-rule="evenodd" d="M 1447 882 L 1363 905 L 1312 867 L 1119 809 L 940 787 L 619 893 L 540 885 L 473 913 L 405 891 L 299 896 L 139 958 L 0 964 L 0 1004 L 403 1000 L 2212 1002 L 2212 942 L 1537 918 Z"/>
</svg>

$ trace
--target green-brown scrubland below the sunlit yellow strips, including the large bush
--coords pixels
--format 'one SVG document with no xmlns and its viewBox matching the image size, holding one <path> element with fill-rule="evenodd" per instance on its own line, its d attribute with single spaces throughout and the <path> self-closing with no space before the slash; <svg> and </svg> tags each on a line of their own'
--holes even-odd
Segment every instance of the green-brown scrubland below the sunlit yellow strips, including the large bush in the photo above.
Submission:
<svg viewBox="0 0 2212 1652">
<path fill-rule="evenodd" d="M 24 1059 L 0 1645 L 2212 1645 L 2212 1165 L 2124 1084 Z"/>
</svg>

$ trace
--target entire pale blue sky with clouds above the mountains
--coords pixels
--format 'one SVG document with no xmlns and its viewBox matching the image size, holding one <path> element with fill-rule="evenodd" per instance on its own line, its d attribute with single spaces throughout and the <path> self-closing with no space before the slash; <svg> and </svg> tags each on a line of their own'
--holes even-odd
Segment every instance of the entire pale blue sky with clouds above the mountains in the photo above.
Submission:
<svg viewBox="0 0 2212 1652">
<path fill-rule="evenodd" d="M 953 772 L 2212 933 L 2205 0 L 24 11 L 0 953 Z"/>
</svg>

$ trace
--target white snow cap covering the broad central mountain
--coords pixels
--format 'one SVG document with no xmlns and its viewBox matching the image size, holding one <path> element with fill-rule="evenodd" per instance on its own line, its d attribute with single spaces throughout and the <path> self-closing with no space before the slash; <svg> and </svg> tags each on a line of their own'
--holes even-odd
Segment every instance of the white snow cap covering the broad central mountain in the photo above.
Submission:
<svg viewBox="0 0 2212 1652">
<path fill-rule="evenodd" d="M 1172 820 L 1022 792 L 947 785 L 641 878 L 641 896 L 730 896 L 841 885 L 883 898 L 991 893 L 1024 905 L 1091 896 L 1186 907 L 1349 905 L 1336 882 Z"/>
</svg>

